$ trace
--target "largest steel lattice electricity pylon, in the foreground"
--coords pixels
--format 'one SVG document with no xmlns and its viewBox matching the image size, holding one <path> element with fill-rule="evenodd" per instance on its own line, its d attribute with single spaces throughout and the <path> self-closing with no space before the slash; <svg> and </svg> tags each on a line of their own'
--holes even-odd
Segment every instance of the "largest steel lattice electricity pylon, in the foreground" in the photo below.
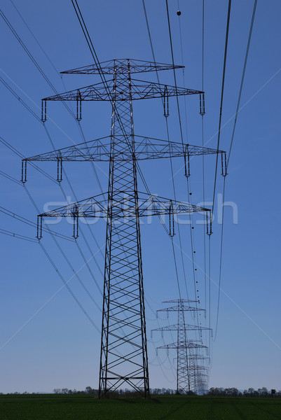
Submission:
<svg viewBox="0 0 281 420">
<path fill-rule="evenodd" d="M 149 395 L 149 370 L 146 349 L 144 286 L 139 218 L 169 216 L 168 233 L 174 235 L 174 214 L 204 212 L 210 227 L 210 210 L 163 197 L 139 193 L 137 187 L 138 160 L 184 158 L 185 174 L 189 176 L 189 157 L 221 153 L 210 148 L 190 146 L 149 137 L 137 137 L 134 132 L 132 101 L 163 98 L 164 115 L 168 115 L 169 97 L 203 92 L 161 85 L 131 78 L 132 73 L 177 69 L 181 66 L 156 64 L 131 59 L 114 59 L 99 65 L 64 71 L 73 74 L 109 74 L 111 80 L 71 90 L 42 99 L 42 120 L 46 121 L 48 101 L 75 101 L 76 118 L 81 120 L 82 101 L 110 101 L 111 134 L 57 151 L 22 160 L 22 182 L 27 181 L 27 162 L 50 160 L 57 162 L 57 181 L 62 181 L 63 161 L 109 162 L 107 200 L 103 194 L 90 197 L 47 213 L 39 214 L 37 237 L 41 239 L 43 217 L 74 219 L 74 238 L 78 237 L 78 218 L 107 219 L 104 265 L 104 299 L 102 309 L 102 341 L 100 356 L 100 397 L 122 384 Z M 224 162 L 224 160 L 222 160 Z"/>
</svg>

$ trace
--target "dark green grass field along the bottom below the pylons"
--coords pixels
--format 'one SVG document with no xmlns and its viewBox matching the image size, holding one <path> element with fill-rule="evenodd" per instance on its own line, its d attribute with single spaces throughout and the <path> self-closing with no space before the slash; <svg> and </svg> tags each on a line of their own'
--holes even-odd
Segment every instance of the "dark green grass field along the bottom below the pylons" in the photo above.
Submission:
<svg viewBox="0 0 281 420">
<path fill-rule="evenodd" d="M 0 395 L 0 420 L 275 420 L 281 400 L 170 396 L 98 400 L 91 395 Z"/>
</svg>

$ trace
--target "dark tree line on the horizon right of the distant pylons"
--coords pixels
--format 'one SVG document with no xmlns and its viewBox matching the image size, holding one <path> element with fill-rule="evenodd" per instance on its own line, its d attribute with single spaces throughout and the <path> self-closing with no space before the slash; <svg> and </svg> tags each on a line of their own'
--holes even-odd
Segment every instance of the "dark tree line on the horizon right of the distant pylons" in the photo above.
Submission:
<svg viewBox="0 0 281 420">
<path fill-rule="evenodd" d="M 237 388 L 210 388 L 207 395 L 216 397 L 275 397 L 281 398 L 281 391 L 271 389 L 268 391 L 267 388 L 254 388 L 245 389 L 245 391 L 238 391 Z"/>
</svg>

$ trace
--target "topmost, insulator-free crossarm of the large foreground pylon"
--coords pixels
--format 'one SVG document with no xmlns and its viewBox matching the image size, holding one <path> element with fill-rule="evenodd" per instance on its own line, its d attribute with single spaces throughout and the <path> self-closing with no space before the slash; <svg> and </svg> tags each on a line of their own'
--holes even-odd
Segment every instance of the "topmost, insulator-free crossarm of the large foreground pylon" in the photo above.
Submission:
<svg viewBox="0 0 281 420">
<path fill-rule="evenodd" d="M 141 59 L 109 59 L 105 62 L 101 62 L 100 66 L 96 64 L 90 64 L 90 66 L 78 67 L 77 69 L 71 69 L 61 71 L 63 74 L 100 74 L 100 71 L 104 74 L 128 74 L 128 62 L 130 62 L 130 73 L 146 73 L 147 71 L 160 71 L 160 70 L 172 70 L 182 69 L 184 66 L 174 66 L 172 64 L 154 63 L 147 62 Z"/>
</svg>

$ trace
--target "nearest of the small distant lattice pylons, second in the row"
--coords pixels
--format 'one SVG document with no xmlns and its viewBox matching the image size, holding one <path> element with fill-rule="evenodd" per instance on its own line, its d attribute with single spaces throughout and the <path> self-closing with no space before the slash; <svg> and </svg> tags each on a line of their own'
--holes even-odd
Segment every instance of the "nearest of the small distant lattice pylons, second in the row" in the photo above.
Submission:
<svg viewBox="0 0 281 420">
<path fill-rule="evenodd" d="M 192 311 L 195 313 L 196 311 L 204 311 L 205 309 L 200 309 L 197 305 L 196 307 L 190 306 L 191 303 L 197 303 L 196 300 L 177 299 L 167 300 L 163 303 L 174 303 L 175 305 L 164 309 L 158 309 L 157 312 L 165 311 L 167 312 L 167 315 L 169 312 L 177 312 L 177 324 L 155 328 L 154 330 L 151 330 L 151 337 L 153 331 L 160 331 L 162 335 L 163 331 L 177 331 L 177 342 L 159 346 L 157 349 L 166 349 L 167 352 L 169 349 L 177 349 L 177 393 L 190 393 L 191 391 L 198 392 L 198 377 L 206 368 L 205 366 L 198 366 L 197 359 L 194 357 L 191 358 L 190 354 L 193 354 L 193 351 L 197 349 L 207 349 L 207 346 L 203 346 L 203 344 L 196 344 L 192 340 L 189 340 L 187 338 L 186 331 L 191 330 L 201 332 L 202 330 L 209 330 L 210 328 L 186 324 L 184 312 Z"/>
</svg>

